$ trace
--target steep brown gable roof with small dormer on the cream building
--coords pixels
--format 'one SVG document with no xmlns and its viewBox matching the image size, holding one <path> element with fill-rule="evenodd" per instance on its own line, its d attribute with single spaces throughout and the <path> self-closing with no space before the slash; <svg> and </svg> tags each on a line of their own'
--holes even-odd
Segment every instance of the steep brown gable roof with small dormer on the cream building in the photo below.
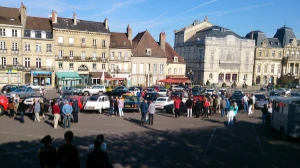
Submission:
<svg viewBox="0 0 300 168">
<path fill-rule="evenodd" d="M 151 55 L 146 54 L 147 48 L 151 49 Z M 167 57 L 167 54 L 160 48 L 147 30 L 138 33 L 132 40 L 132 54 L 133 56 Z"/>
</svg>

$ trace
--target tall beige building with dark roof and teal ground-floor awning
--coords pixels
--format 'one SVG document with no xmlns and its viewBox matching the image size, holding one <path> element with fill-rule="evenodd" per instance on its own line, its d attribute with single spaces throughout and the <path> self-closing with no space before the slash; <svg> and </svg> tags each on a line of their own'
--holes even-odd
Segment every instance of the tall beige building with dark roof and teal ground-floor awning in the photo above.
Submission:
<svg viewBox="0 0 300 168">
<path fill-rule="evenodd" d="M 76 13 L 73 19 L 62 18 L 56 11 L 52 11 L 51 19 L 58 85 L 91 84 L 91 76 L 95 78 L 98 76 L 95 74 L 108 72 L 108 19 L 104 22 L 79 20 Z"/>
</svg>

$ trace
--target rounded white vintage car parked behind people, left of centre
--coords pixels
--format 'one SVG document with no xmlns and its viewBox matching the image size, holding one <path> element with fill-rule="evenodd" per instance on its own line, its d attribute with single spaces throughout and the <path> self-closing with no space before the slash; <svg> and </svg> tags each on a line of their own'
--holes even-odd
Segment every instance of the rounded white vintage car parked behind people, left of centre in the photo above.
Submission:
<svg viewBox="0 0 300 168">
<path fill-rule="evenodd" d="M 109 98 L 107 95 L 96 95 L 91 96 L 85 103 L 84 110 L 94 111 L 97 110 L 99 113 L 102 113 L 103 110 L 109 109 Z"/>
</svg>

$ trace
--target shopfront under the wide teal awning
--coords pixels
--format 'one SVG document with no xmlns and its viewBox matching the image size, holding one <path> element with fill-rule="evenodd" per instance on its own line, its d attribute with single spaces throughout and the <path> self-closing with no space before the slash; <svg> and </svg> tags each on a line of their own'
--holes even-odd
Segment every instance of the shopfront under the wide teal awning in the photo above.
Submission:
<svg viewBox="0 0 300 168">
<path fill-rule="evenodd" d="M 56 72 L 56 84 L 60 86 L 76 86 L 81 83 L 77 72 Z"/>
</svg>

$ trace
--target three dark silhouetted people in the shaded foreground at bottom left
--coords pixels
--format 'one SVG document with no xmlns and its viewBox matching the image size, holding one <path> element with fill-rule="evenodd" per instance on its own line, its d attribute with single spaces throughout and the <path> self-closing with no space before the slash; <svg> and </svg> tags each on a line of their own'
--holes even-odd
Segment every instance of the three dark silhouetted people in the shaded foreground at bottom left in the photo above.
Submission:
<svg viewBox="0 0 300 168">
<path fill-rule="evenodd" d="M 52 138 L 46 135 L 41 143 L 44 144 L 38 150 L 38 159 L 42 168 L 80 168 L 79 152 L 72 143 L 74 134 L 67 131 L 64 134 L 65 143 L 61 146 L 52 146 Z M 86 168 L 112 168 L 107 151 L 104 135 L 98 135 L 92 145 L 89 145 L 89 154 L 86 160 Z"/>
</svg>

